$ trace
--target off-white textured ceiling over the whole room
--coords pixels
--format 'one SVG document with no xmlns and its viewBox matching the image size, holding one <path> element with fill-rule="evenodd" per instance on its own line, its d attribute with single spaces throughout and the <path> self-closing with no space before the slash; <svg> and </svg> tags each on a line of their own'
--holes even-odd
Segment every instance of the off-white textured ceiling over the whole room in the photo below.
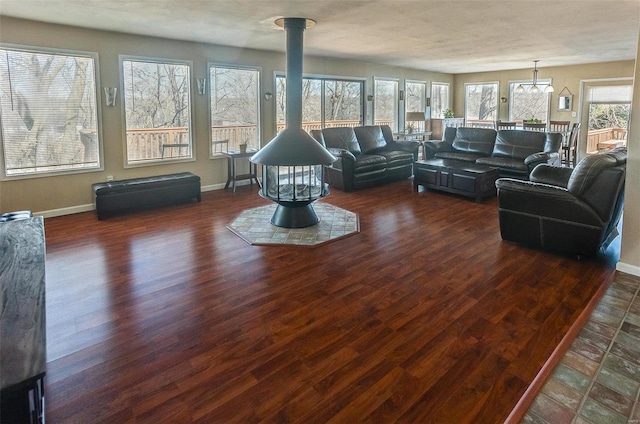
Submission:
<svg viewBox="0 0 640 424">
<path fill-rule="evenodd" d="M 640 0 L 0 0 L 0 15 L 277 51 L 275 17 L 305 17 L 305 55 L 446 73 L 635 59 L 640 30 Z"/>
</svg>

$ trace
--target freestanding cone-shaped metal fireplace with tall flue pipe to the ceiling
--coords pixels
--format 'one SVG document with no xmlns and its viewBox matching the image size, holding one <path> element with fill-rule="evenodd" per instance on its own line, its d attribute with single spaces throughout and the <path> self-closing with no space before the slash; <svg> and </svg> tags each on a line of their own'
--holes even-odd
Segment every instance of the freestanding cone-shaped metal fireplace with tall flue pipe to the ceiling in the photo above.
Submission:
<svg viewBox="0 0 640 424">
<path fill-rule="evenodd" d="M 276 24 L 284 26 L 287 35 L 286 126 L 251 162 L 262 165 L 260 195 L 278 203 L 271 223 L 303 228 L 319 222 L 312 203 L 329 194 L 323 169 L 336 157 L 302 129 L 303 33 L 315 22 L 283 18 Z"/>
</svg>

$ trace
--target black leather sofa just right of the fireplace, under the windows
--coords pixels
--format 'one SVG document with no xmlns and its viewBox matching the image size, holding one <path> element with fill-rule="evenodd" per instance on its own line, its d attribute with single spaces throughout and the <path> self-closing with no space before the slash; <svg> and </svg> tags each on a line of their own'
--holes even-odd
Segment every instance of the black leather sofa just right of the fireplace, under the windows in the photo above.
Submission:
<svg viewBox="0 0 640 424">
<path fill-rule="evenodd" d="M 343 191 L 407 179 L 418 159 L 420 143 L 395 141 L 387 125 L 324 128 L 310 133 L 338 158 L 325 167 L 325 180 Z"/>
</svg>

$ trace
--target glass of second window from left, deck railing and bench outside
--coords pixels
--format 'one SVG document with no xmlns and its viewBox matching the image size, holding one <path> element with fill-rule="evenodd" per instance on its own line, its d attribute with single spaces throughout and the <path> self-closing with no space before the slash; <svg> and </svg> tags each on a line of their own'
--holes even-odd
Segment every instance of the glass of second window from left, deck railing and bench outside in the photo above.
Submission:
<svg viewBox="0 0 640 424">
<path fill-rule="evenodd" d="M 121 58 L 127 165 L 193 158 L 190 62 Z"/>
</svg>

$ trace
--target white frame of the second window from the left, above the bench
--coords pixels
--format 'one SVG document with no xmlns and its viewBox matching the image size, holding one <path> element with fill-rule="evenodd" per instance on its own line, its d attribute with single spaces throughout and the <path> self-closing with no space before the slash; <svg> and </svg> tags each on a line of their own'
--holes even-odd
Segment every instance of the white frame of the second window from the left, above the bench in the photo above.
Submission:
<svg viewBox="0 0 640 424">
<path fill-rule="evenodd" d="M 189 128 L 187 130 L 187 135 L 189 139 L 189 148 L 190 156 L 188 157 L 170 157 L 167 159 L 144 159 L 140 161 L 129 162 L 129 146 L 127 140 L 127 109 L 126 109 L 126 92 L 125 92 L 125 70 L 124 63 L 125 62 L 145 62 L 145 63 L 153 63 L 153 64 L 169 64 L 169 65 L 185 65 L 188 70 L 188 77 L 185 79 L 189 84 L 187 89 L 187 94 L 189 96 L 187 104 L 189 105 L 189 113 L 187 116 L 189 117 Z M 194 122 L 195 122 L 195 108 L 193 107 L 193 98 L 195 96 L 195 84 L 194 81 L 194 72 L 193 72 L 193 61 L 185 60 L 185 59 L 171 59 L 171 58 L 161 58 L 161 57 L 151 57 L 151 56 L 137 56 L 137 55 L 120 55 L 119 56 L 119 69 L 120 69 L 120 92 L 122 93 L 120 97 L 120 104 L 122 105 L 122 139 L 123 139 L 123 166 L 124 168 L 139 168 L 144 166 L 158 166 L 167 163 L 176 163 L 176 162 L 194 162 L 196 160 L 196 142 L 194 139 Z"/>
</svg>

